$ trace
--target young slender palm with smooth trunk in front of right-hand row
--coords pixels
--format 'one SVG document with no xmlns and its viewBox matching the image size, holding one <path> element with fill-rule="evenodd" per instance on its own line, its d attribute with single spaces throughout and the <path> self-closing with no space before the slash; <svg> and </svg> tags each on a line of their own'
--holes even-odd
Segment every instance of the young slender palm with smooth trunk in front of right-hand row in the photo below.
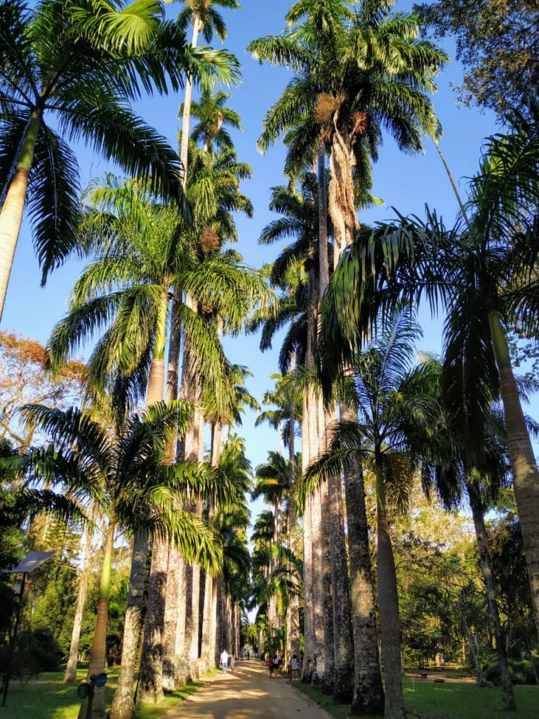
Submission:
<svg viewBox="0 0 539 719">
<path fill-rule="evenodd" d="M 382 662 L 385 677 L 385 719 L 404 719 L 400 620 L 397 577 L 393 557 L 388 508 L 405 504 L 413 473 L 441 423 L 436 396 L 430 393 L 428 372 L 410 368 L 413 345 L 420 328 L 405 309 L 387 320 L 361 354 L 349 357 L 350 382 L 359 424 L 340 423 L 328 454 L 309 475 L 326 477 L 346 471 L 357 456 L 374 466 L 377 498 L 377 577 Z M 346 366 L 346 365 L 345 365 Z M 335 379 L 343 365 L 328 367 Z"/>
</svg>

